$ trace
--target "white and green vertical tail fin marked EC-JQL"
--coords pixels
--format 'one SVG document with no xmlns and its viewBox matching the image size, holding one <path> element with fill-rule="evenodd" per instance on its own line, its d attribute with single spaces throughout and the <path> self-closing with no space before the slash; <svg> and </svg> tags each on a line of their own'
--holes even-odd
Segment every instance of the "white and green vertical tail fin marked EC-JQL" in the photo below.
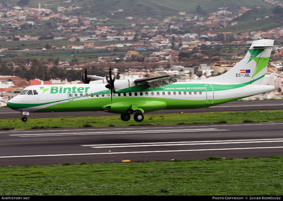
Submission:
<svg viewBox="0 0 283 201">
<path fill-rule="evenodd" d="M 262 84 L 274 40 L 256 40 L 246 56 L 226 73 L 206 79 L 209 82 Z M 205 81 L 206 81 L 205 80 Z"/>
</svg>

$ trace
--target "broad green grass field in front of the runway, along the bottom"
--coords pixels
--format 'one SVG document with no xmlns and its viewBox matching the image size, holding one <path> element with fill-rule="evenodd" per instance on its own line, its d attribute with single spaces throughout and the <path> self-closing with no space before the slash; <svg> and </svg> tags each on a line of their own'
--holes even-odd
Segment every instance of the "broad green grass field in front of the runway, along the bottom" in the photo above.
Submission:
<svg viewBox="0 0 283 201">
<path fill-rule="evenodd" d="M 0 168 L 1 195 L 282 195 L 282 156 Z"/>
</svg>

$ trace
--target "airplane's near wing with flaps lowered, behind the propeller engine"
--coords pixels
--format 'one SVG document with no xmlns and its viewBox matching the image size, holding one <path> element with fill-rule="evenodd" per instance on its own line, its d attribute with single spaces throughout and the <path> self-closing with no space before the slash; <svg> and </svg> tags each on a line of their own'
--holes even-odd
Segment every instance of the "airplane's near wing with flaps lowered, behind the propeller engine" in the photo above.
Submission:
<svg viewBox="0 0 283 201">
<path fill-rule="evenodd" d="M 185 76 L 182 74 L 168 74 L 168 75 L 159 75 L 159 76 L 153 76 L 149 78 L 140 78 L 134 80 L 135 84 L 148 84 L 150 87 L 157 89 L 158 87 L 164 87 L 168 84 L 173 84 L 174 82 L 177 82 L 177 79 Z"/>
</svg>

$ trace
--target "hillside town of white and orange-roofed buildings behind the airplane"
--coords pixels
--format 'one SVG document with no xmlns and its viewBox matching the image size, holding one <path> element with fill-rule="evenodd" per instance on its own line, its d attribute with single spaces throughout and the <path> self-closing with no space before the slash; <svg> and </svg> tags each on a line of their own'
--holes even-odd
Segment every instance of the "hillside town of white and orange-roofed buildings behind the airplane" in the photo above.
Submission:
<svg viewBox="0 0 283 201">
<path fill-rule="evenodd" d="M 279 2 L 265 0 L 282 7 Z M 57 10 L 48 9 L 48 5 L 38 4 L 38 8 L 8 7 L 0 5 L 0 104 L 5 103 L 18 95 L 23 88 L 40 84 L 83 84 L 82 80 L 69 80 L 63 77 L 45 78 L 34 77 L 28 79 L 21 77 L 20 70 L 30 72 L 36 62 L 42 63 L 48 69 L 64 69 L 82 71 L 87 68 L 103 69 L 108 72 L 112 66 L 113 74 L 119 79 L 138 79 L 164 74 L 184 74 L 177 82 L 192 82 L 194 80 L 217 76 L 230 70 L 246 54 L 237 47 L 249 46 L 254 40 L 279 39 L 283 37 L 283 28 L 268 31 L 249 31 L 248 29 L 238 34 L 229 31 L 219 33 L 218 29 L 235 26 L 238 17 L 251 9 L 241 7 L 236 13 L 229 8 L 218 8 L 207 18 L 179 12 L 177 17 L 162 18 L 160 15 L 141 18 L 135 15 L 124 16 L 127 28 L 120 25 L 104 25 L 106 22 L 115 22 L 113 16 L 125 14 L 123 9 L 107 12 L 108 17 L 98 19 L 95 17 L 67 15 L 66 12 L 78 10 L 83 7 L 71 4 L 72 1 L 63 1 Z M 64 4 L 71 4 L 64 6 Z M 42 8 L 46 7 L 46 8 Z M 85 15 L 91 14 L 90 11 Z M 265 20 L 271 16 L 263 16 L 256 21 Z M 110 23 L 109 23 L 110 24 Z M 49 27 L 50 35 L 21 34 L 21 30 L 35 29 L 40 26 Z M 195 27 L 195 29 L 192 29 Z M 189 28 L 189 29 L 188 29 Z M 189 30 L 189 31 L 186 31 Z M 224 40 L 223 35 L 227 35 Z M 229 35 L 229 37 L 228 37 Z M 18 47 L 11 47 L 15 41 L 44 41 L 35 48 L 25 48 L 25 43 Z M 46 41 L 46 42 L 45 42 Z M 63 45 L 49 45 L 54 41 L 63 41 Z M 219 58 L 218 52 L 223 47 L 227 54 L 238 52 L 237 55 Z M 208 50 L 215 51 L 208 51 Z M 8 53 L 24 54 L 41 51 L 61 51 L 60 55 L 66 58 L 58 59 L 23 59 L 21 62 L 11 59 L 5 62 Z M 78 59 L 76 53 L 82 51 L 106 52 L 105 55 L 96 54 L 95 57 L 85 56 Z M 120 53 L 123 52 L 123 53 Z M 36 53 L 36 54 L 39 54 Z M 43 52 L 44 53 L 44 52 Z M 71 55 L 71 56 L 70 56 Z M 270 94 L 260 95 L 255 99 L 282 99 L 283 69 L 280 59 L 283 58 L 283 48 L 273 49 L 272 59 L 267 66 L 265 84 L 275 85 L 275 91 Z M 13 55 L 14 58 L 14 55 Z M 196 62 L 196 60 L 199 62 Z M 8 60 L 8 59 L 7 59 Z M 91 61 L 89 61 L 91 60 Z M 205 62 L 204 62 L 205 61 Z M 9 74 L 10 73 L 10 74 Z M 48 77 L 48 78 L 47 78 Z M 79 79 L 79 78 L 77 78 Z"/>
</svg>

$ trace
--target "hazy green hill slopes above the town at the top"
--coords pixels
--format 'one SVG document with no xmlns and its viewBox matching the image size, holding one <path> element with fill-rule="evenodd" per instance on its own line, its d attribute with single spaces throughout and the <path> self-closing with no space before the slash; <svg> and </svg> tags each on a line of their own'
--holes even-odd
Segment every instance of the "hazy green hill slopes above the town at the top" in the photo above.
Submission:
<svg viewBox="0 0 283 201">
<path fill-rule="evenodd" d="M 2 5 L 17 5 L 19 1 L 20 0 L 0 0 Z M 56 11 L 59 6 L 65 8 L 72 5 L 82 6 L 83 8 L 65 12 L 65 14 L 96 17 L 98 19 L 109 17 L 111 20 L 117 20 L 117 24 L 123 24 L 123 20 L 125 20 L 127 16 L 140 18 L 158 18 L 157 16 L 159 16 L 160 18 L 166 18 L 169 16 L 180 17 L 178 16 L 179 12 L 186 12 L 186 14 L 208 17 L 212 12 L 224 10 L 224 2 L 226 2 L 226 10 L 233 14 L 237 13 L 241 7 L 252 8 L 252 10 L 234 19 L 234 21 L 239 21 L 238 25 L 227 27 L 227 32 L 239 33 L 246 29 L 268 30 L 283 26 L 281 19 L 265 19 L 265 17 L 272 14 L 272 9 L 276 5 L 263 0 L 72 0 L 70 3 L 63 3 L 63 1 L 58 0 L 29 0 L 26 6 L 37 8 L 38 3 L 40 3 L 41 8 L 49 8 L 53 11 Z M 203 10 L 202 14 L 197 12 L 196 8 L 198 6 Z M 257 9 L 257 7 L 260 8 Z M 115 12 L 114 15 L 110 14 L 110 11 L 117 11 L 118 9 L 123 9 L 123 12 Z M 206 13 L 206 15 L 204 15 L 204 13 Z M 256 21 L 256 19 L 259 18 L 263 20 Z M 223 31 L 224 29 L 217 29 L 216 32 Z"/>
</svg>

